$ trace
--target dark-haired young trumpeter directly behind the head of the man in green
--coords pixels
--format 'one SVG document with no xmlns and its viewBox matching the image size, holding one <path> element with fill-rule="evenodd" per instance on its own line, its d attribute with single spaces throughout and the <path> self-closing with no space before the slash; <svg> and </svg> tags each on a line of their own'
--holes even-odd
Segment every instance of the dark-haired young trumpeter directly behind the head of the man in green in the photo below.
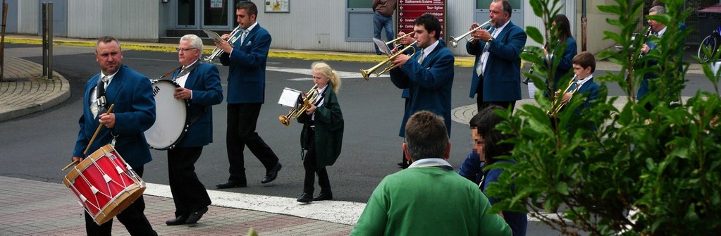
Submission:
<svg viewBox="0 0 721 236">
<path fill-rule="evenodd" d="M 451 133 L 451 88 L 454 61 L 446 43 L 440 38 L 441 22 L 433 14 L 423 14 L 413 22 L 413 38 L 418 51 L 412 56 L 400 54 L 392 58 L 391 81 L 399 89 L 408 89 L 403 123 L 410 115 L 428 110 L 441 115 Z M 394 49 L 394 53 L 398 48 Z M 404 137 L 405 127 L 399 135 Z"/>
</svg>

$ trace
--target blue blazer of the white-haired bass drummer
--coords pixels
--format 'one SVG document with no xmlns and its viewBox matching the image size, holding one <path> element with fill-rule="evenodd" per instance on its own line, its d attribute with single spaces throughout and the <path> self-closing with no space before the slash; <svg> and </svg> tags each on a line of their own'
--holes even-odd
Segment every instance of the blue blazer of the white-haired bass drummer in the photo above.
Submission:
<svg viewBox="0 0 721 236">
<path fill-rule="evenodd" d="M 200 61 L 196 63 L 200 65 L 187 75 L 184 87 L 193 90 L 190 108 L 187 110 L 188 117 L 200 115 L 200 118 L 190 124 L 187 133 L 176 147 L 202 147 L 212 143 L 213 105 L 223 102 L 223 87 L 218 67 Z M 175 71 L 173 77 L 178 73 L 180 70 Z"/>
</svg>

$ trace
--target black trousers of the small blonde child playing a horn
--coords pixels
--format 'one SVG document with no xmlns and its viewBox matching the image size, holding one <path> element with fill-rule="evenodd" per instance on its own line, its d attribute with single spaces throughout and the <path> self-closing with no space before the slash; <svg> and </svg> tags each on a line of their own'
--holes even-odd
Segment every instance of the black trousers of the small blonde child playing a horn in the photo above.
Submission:
<svg viewBox="0 0 721 236">
<path fill-rule="evenodd" d="M 308 129 L 308 152 L 306 152 L 305 158 L 303 159 L 303 167 L 306 170 L 306 178 L 303 182 L 303 192 L 313 196 L 315 175 L 318 175 L 318 185 L 320 185 L 320 192 L 330 194 L 330 180 L 328 179 L 328 172 L 325 167 L 318 168 L 316 166 L 317 156 L 315 150 L 315 131 L 313 128 Z"/>
</svg>

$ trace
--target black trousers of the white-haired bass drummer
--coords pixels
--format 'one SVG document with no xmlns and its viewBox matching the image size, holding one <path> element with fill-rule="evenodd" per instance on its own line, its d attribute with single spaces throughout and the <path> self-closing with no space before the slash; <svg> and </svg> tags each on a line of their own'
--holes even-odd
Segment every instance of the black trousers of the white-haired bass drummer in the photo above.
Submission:
<svg viewBox="0 0 721 236">
<path fill-rule="evenodd" d="M 176 147 L 168 150 L 168 180 L 175 204 L 175 217 L 191 213 L 211 205 L 211 197 L 205 185 L 195 174 L 195 162 L 203 153 L 203 147 Z"/>
</svg>

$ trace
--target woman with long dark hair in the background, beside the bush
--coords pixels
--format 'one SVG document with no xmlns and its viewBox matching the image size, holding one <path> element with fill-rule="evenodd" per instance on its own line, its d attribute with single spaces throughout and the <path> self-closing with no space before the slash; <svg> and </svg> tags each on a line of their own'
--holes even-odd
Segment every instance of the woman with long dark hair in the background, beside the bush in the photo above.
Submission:
<svg viewBox="0 0 721 236">
<path fill-rule="evenodd" d="M 573 65 L 571 64 L 571 60 L 573 59 L 573 56 L 576 56 L 576 53 L 578 53 L 578 46 L 576 45 L 576 40 L 573 39 L 573 35 L 571 33 L 571 25 L 570 22 L 568 22 L 568 17 L 566 17 L 565 14 L 557 14 L 556 18 L 553 20 L 552 25 L 552 31 L 556 33 L 558 40 L 558 45 L 565 45 L 562 48 L 563 49 L 563 56 L 560 58 L 558 66 L 556 67 L 556 73 L 554 74 L 553 79 L 553 87 L 550 86 L 549 81 L 546 81 L 546 85 L 549 88 L 552 88 L 552 91 L 556 91 L 559 89 L 558 82 L 561 79 L 561 77 L 564 77 L 566 74 L 570 73 L 573 69 Z M 549 48 L 556 48 L 557 45 L 546 45 L 544 48 L 544 52 L 546 53 L 546 61 L 551 61 L 554 56 L 554 51 L 548 51 Z M 547 62 L 547 64 L 549 64 Z M 550 65 L 550 64 L 549 64 Z M 547 93 L 549 94 L 549 93 Z"/>
</svg>

